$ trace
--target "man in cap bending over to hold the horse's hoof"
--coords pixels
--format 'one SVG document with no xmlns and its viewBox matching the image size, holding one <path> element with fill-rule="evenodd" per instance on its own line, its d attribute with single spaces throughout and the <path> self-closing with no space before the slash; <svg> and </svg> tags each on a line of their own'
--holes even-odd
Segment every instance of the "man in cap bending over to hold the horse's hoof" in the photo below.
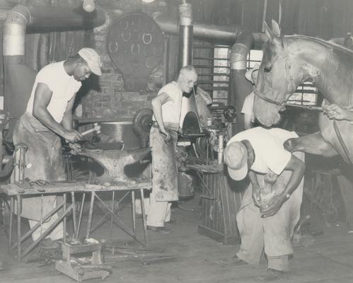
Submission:
<svg viewBox="0 0 353 283">
<path fill-rule="evenodd" d="M 231 178 L 248 175 L 250 184 L 236 216 L 241 249 L 222 262 L 257 265 L 265 248 L 268 270 L 259 278 L 262 282 L 281 278 L 293 253 L 291 237 L 299 221 L 305 170 L 304 154 L 283 147 L 293 137 L 298 135 L 284 129 L 255 127 L 232 137 L 224 151 Z"/>
</svg>

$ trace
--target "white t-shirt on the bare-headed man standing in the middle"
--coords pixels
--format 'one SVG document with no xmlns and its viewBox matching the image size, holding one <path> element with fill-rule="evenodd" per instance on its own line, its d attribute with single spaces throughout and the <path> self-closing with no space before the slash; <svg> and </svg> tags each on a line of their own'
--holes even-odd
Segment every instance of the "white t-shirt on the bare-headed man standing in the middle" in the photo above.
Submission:
<svg viewBox="0 0 353 283">
<path fill-rule="evenodd" d="M 158 91 L 158 95 L 161 93 L 167 93 L 171 100 L 162 104 L 162 119 L 164 123 L 173 123 L 179 125 L 180 112 L 181 112 L 181 101 L 183 98 L 183 91 L 180 90 L 178 83 L 172 81 L 167 83 Z M 155 121 L 156 118 L 153 117 Z"/>
</svg>

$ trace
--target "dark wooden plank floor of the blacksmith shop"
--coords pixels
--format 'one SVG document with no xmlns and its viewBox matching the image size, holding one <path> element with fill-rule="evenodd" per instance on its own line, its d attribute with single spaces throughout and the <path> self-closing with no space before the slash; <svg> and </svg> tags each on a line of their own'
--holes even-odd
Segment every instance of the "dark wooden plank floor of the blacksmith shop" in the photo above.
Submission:
<svg viewBox="0 0 353 283">
<path fill-rule="evenodd" d="M 185 202 L 183 207 L 198 209 L 197 198 Z M 125 213 L 126 211 L 126 213 Z M 122 210 L 128 217 L 129 207 Z M 126 215 L 125 215 L 126 214 Z M 219 260 L 227 258 L 238 250 L 236 246 L 224 246 L 221 243 L 199 235 L 197 224 L 199 212 L 179 208 L 173 209 L 172 219 L 178 223 L 169 227 L 172 232 L 161 234 L 149 231 L 150 248 L 162 248 L 168 255 L 176 255 L 173 262 L 162 262 L 144 266 L 138 260 L 122 261 L 114 267 L 112 275 L 105 282 L 257 282 L 256 277 L 265 272 L 267 262 L 262 258 L 260 266 L 242 265 L 239 267 L 222 266 Z M 141 219 L 138 219 L 142 236 Z M 280 282 L 353 282 L 353 233 L 348 233 L 345 224 L 334 224 L 325 227 L 323 235 L 316 236 L 308 247 L 297 247 L 294 258 L 290 260 L 291 271 Z M 129 241 L 120 229 L 110 229 L 108 223 L 93 233 L 93 238 L 114 238 L 118 241 Z M 1 283 L 62 283 L 74 280 L 61 275 L 54 266 L 39 267 L 38 264 L 16 262 L 6 250 L 4 227 L 0 228 L 0 257 L 4 270 L 0 271 Z M 101 282 L 92 279 L 88 282 Z"/>
</svg>

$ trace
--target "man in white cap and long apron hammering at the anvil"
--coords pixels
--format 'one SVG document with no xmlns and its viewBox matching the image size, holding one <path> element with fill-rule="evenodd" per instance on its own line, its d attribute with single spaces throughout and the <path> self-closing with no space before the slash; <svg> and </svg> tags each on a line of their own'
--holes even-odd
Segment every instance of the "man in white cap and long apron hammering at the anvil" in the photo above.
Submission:
<svg viewBox="0 0 353 283">
<path fill-rule="evenodd" d="M 13 129 L 13 144 L 26 144 L 28 150 L 25 161 L 25 178 L 30 180 L 65 180 L 62 160 L 61 138 L 71 148 L 78 149 L 76 141 L 81 134 L 73 129 L 72 110 L 81 81 L 88 79 L 91 73 L 100 76 L 100 57 L 96 50 L 84 47 L 78 54 L 62 62 L 43 67 L 35 77 L 32 93 L 25 113 Z M 56 196 L 43 197 L 42 214 L 45 216 L 56 206 Z M 30 227 L 40 221 L 40 197 L 28 197 L 23 200 L 22 216 L 29 219 Z M 57 219 L 54 214 L 32 234 L 33 241 L 42 231 L 49 228 Z M 57 226 L 47 238 L 62 238 L 62 225 Z M 50 241 L 48 241 L 50 242 Z"/>
</svg>

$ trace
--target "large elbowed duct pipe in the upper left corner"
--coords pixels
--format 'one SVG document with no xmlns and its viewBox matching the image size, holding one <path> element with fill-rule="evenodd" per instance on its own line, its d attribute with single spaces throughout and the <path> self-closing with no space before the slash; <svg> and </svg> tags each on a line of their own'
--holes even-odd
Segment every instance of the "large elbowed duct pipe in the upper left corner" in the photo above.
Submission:
<svg viewBox="0 0 353 283">
<path fill-rule="evenodd" d="M 105 13 L 96 10 L 51 6 L 15 6 L 4 23 L 4 110 L 10 114 L 6 140 L 18 117 L 25 112 L 36 71 L 25 64 L 25 35 L 30 31 L 88 30 L 105 23 Z M 0 109 L 2 110 L 2 109 Z"/>
</svg>

